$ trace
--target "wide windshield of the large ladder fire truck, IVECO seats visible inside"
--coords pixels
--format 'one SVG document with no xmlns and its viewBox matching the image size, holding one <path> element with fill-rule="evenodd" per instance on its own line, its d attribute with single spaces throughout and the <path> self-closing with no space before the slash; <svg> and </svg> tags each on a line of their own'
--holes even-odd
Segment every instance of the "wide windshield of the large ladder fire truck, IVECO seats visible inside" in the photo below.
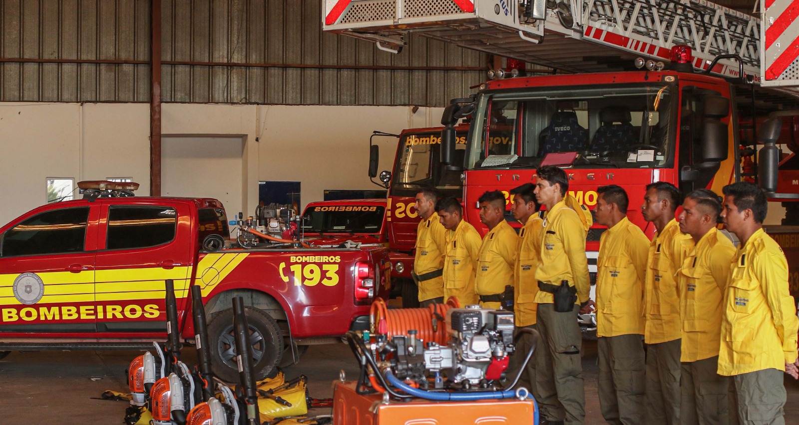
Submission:
<svg viewBox="0 0 799 425">
<path fill-rule="evenodd" d="M 592 85 L 485 92 L 466 168 L 668 167 L 674 161 L 672 85 Z M 562 159 L 566 158 L 566 159 Z M 557 162 L 559 160 L 565 162 Z"/>
</svg>

